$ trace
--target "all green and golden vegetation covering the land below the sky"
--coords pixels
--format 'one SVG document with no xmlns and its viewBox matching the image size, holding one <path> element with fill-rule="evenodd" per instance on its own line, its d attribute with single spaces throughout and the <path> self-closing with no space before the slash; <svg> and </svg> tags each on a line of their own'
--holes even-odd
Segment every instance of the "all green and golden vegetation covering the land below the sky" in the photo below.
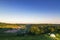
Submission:
<svg viewBox="0 0 60 40">
<path fill-rule="evenodd" d="M 13 30 L 17 31 L 14 32 Z M 13 31 L 14 33 L 11 31 Z M 54 38 L 50 37 L 52 33 L 55 34 L 56 37 Z M 59 39 L 60 39 L 60 24 L 0 23 L 0 40 L 59 40 Z"/>
</svg>

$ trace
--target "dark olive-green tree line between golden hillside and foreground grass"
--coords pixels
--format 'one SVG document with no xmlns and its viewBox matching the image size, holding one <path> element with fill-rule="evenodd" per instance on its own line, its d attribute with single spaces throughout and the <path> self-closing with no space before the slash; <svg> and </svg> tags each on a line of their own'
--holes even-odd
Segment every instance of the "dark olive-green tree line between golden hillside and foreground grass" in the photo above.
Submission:
<svg viewBox="0 0 60 40">
<path fill-rule="evenodd" d="M 5 30 L 12 30 L 12 29 L 13 28 L 0 28 L 0 33 Z M 19 31 L 17 31 L 16 33 L 17 35 L 40 35 L 46 33 L 60 33 L 60 25 L 26 24 L 24 25 L 23 28 L 20 28 Z"/>
</svg>

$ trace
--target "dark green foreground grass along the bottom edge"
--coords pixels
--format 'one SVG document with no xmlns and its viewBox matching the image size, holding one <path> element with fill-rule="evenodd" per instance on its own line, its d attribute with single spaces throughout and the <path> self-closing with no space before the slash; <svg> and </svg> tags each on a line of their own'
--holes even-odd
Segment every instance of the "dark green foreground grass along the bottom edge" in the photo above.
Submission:
<svg viewBox="0 0 60 40">
<path fill-rule="evenodd" d="M 56 38 L 51 38 L 47 34 L 35 36 L 0 36 L 0 40 L 59 40 L 60 35 L 56 34 Z"/>
</svg>

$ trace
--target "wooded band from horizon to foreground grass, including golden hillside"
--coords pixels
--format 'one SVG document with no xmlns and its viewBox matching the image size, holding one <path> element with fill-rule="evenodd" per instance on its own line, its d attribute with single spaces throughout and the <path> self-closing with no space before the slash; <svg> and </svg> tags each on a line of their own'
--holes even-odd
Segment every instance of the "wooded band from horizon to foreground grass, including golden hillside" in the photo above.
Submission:
<svg viewBox="0 0 60 40">
<path fill-rule="evenodd" d="M 7 30 L 18 30 L 13 34 L 40 35 L 46 33 L 60 33 L 60 24 L 8 24 L 0 23 L 0 34 Z M 9 32 L 8 32 L 9 33 Z"/>
</svg>

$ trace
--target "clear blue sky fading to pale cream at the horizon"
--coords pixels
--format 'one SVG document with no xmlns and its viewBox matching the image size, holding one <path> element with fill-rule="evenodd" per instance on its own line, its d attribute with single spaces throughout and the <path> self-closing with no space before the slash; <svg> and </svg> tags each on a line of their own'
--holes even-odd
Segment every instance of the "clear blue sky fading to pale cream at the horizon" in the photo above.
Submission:
<svg viewBox="0 0 60 40">
<path fill-rule="evenodd" d="M 60 24 L 60 0 L 0 0 L 0 22 Z"/>
</svg>

